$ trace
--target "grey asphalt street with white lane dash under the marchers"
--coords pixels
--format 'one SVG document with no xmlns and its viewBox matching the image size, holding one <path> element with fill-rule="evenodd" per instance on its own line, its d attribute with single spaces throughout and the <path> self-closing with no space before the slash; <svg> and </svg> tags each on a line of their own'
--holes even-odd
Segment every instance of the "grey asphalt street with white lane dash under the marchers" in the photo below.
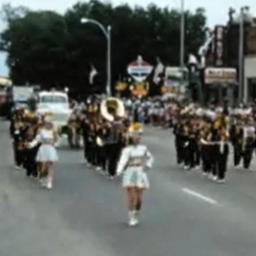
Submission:
<svg viewBox="0 0 256 256">
<path fill-rule="evenodd" d="M 54 187 L 43 190 L 14 170 L 8 126 L 0 121 L 0 256 L 256 255 L 256 172 L 235 170 L 231 156 L 227 184 L 216 184 L 176 165 L 171 130 L 146 128 L 155 165 L 131 228 L 120 179 L 64 145 Z"/>
</svg>

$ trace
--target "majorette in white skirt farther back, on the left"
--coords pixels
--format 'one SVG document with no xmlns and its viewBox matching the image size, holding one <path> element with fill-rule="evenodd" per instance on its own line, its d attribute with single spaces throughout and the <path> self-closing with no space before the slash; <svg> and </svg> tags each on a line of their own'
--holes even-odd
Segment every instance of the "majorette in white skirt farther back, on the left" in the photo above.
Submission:
<svg viewBox="0 0 256 256">
<path fill-rule="evenodd" d="M 55 149 L 55 143 L 58 140 L 58 134 L 52 124 L 52 115 L 48 114 L 44 117 L 42 129 L 38 131 L 35 139 L 30 143 L 33 147 L 41 144 L 36 155 L 36 162 L 39 163 L 40 173 L 44 177 L 40 179 L 41 186 L 48 189 L 52 188 L 53 182 L 53 163 L 58 160 L 58 155 Z"/>
</svg>

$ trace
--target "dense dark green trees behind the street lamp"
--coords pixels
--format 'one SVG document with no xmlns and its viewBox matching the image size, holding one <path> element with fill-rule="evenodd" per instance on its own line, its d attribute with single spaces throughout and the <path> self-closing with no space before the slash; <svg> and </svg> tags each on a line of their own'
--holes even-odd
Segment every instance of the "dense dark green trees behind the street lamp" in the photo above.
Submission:
<svg viewBox="0 0 256 256">
<path fill-rule="evenodd" d="M 95 25 L 81 24 L 83 17 L 112 27 L 112 86 L 127 76 L 127 64 L 137 55 L 153 65 L 157 56 L 165 65 L 179 65 L 180 11 L 176 9 L 154 4 L 146 8 L 131 8 L 128 4 L 114 7 L 111 3 L 90 0 L 77 3 L 63 15 L 7 4 L 1 9 L 1 17 L 7 28 L 0 35 L 0 49 L 8 54 L 7 65 L 14 84 L 90 91 L 93 64 L 99 73 L 95 88 L 104 90 L 106 39 Z M 186 11 L 186 56 L 197 53 L 205 40 L 205 31 L 205 10 Z"/>
</svg>

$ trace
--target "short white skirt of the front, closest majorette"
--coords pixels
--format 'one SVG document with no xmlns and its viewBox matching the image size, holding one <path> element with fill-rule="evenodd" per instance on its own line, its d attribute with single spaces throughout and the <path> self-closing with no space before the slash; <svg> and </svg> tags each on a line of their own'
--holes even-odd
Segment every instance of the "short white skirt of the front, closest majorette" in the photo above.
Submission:
<svg viewBox="0 0 256 256">
<path fill-rule="evenodd" d="M 123 176 L 123 187 L 149 188 L 147 173 L 141 167 L 128 167 Z"/>
</svg>

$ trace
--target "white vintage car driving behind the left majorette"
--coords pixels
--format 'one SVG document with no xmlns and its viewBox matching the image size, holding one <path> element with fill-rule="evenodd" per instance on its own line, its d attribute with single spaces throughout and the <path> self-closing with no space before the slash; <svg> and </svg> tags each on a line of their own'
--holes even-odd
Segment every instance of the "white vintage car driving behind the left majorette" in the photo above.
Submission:
<svg viewBox="0 0 256 256">
<path fill-rule="evenodd" d="M 72 112 L 69 108 L 69 97 L 62 91 L 42 91 L 38 94 L 37 113 L 53 113 L 53 124 L 60 134 L 67 133 L 68 119 Z"/>
</svg>

